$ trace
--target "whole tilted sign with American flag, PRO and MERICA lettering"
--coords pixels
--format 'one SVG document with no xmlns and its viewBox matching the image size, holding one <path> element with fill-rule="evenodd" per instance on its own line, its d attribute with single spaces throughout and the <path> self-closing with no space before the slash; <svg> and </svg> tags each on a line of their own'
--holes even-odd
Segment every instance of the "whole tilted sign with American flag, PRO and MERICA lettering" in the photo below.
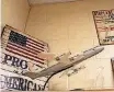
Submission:
<svg viewBox="0 0 114 92">
<path fill-rule="evenodd" d="M 36 79 L 22 76 L 26 71 L 39 72 L 47 68 L 39 53 L 48 51 L 48 44 L 5 26 L 1 38 L 1 79 L 0 89 L 39 91 L 47 78 Z M 7 72 L 7 73 L 5 73 Z"/>
</svg>

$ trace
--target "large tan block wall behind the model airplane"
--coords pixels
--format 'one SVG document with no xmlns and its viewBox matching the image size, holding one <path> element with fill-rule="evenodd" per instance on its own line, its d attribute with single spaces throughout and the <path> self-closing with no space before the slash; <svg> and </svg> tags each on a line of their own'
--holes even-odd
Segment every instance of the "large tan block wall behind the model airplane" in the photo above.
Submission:
<svg viewBox="0 0 114 92">
<path fill-rule="evenodd" d="M 79 0 L 68 3 L 34 5 L 25 32 L 49 44 L 50 51 L 82 51 L 99 45 L 92 16 L 94 10 L 114 9 L 114 0 Z M 50 90 L 112 88 L 111 57 L 114 45 L 86 60 L 86 69 L 71 77 L 58 73 L 50 79 Z M 54 64 L 54 62 L 53 62 Z"/>
</svg>

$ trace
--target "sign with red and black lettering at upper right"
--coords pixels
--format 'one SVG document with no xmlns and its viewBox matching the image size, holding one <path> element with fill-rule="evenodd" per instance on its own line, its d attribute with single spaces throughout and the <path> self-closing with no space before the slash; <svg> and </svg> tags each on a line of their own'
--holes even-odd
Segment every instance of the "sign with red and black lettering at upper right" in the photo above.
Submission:
<svg viewBox="0 0 114 92">
<path fill-rule="evenodd" d="M 114 9 L 93 11 L 92 13 L 100 44 L 114 44 Z"/>
</svg>

